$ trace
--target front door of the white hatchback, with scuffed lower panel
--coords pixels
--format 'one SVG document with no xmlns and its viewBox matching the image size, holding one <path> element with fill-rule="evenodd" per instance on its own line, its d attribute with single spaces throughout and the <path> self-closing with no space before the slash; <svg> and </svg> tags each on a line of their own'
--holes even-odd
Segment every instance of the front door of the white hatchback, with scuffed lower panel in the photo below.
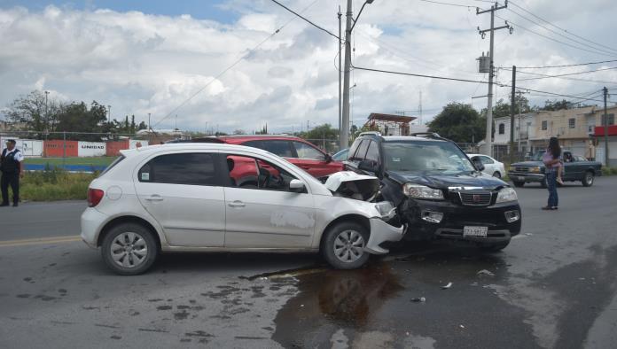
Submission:
<svg viewBox="0 0 617 349">
<path fill-rule="evenodd" d="M 245 164 L 253 161 L 259 180 L 256 187 L 232 182 L 225 186 L 225 247 L 308 248 L 315 233 L 313 197 L 290 191 L 294 177 L 268 161 L 235 153 L 226 156 L 244 158 Z"/>
</svg>

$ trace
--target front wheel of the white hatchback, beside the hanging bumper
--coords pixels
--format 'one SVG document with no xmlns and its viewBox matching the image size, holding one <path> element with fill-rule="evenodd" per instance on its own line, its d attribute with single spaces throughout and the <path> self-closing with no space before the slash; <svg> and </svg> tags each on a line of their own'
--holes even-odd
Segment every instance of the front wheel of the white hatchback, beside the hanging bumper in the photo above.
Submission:
<svg viewBox="0 0 617 349">
<path fill-rule="evenodd" d="M 324 234 L 321 252 L 333 268 L 360 268 L 369 260 L 369 253 L 364 251 L 369 233 L 362 225 L 343 221 L 332 226 Z"/>
</svg>

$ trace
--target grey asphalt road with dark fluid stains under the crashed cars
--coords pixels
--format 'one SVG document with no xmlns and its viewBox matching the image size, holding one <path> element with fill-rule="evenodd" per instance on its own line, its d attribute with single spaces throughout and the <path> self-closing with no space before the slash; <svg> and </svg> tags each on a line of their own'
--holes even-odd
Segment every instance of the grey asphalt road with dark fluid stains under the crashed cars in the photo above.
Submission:
<svg viewBox="0 0 617 349">
<path fill-rule="evenodd" d="M 356 271 L 314 255 L 173 254 L 122 277 L 65 237 L 82 203 L 3 208 L 0 224 L 19 223 L 0 225 L 0 347 L 614 347 L 616 188 L 568 184 L 544 212 L 548 192 L 529 185 L 504 252 L 409 245 Z"/>
</svg>

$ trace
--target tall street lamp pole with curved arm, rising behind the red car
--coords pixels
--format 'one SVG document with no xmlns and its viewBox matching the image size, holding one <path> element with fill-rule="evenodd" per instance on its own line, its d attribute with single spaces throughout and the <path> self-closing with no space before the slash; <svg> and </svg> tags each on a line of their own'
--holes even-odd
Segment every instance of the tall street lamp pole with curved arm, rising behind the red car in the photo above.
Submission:
<svg viewBox="0 0 617 349">
<path fill-rule="evenodd" d="M 340 149 L 348 148 L 349 146 L 349 71 L 351 68 L 351 31 L 354 29 L 355 24 L 360 18 L 366 4 L 372 4 L 374 0 L 365 0 L 360 12 L 353 19 L 353 13 L 351 12 L 351 0 L 348 0 L 348 9 L 346 13 L 347 26 L 345 30 L 345 70 L 343 78 L 343 117 L 340 123 Z M 352 22 L 353 21 L 353 22 Z"/>
</svg>

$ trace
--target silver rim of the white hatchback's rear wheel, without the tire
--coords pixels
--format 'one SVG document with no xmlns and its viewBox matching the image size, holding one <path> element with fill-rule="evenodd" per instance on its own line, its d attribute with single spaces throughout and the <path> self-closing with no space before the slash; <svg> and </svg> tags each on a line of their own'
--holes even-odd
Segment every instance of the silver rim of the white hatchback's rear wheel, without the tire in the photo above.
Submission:
<svg viewBox="0 0 617 349">
<path fill-rule="evenodd" d="M 113 239 L 110 247 L 113 262 L 122 268 L 137 268 L 148 256 L 144 237 L 134 232 L 125 232 Z"/>
</svg>

